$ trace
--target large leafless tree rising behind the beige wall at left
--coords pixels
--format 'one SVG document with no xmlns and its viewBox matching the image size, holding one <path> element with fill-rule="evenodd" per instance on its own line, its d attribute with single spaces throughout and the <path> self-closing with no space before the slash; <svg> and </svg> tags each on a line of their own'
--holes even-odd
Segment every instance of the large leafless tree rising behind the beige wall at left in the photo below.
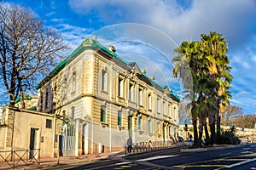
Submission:
<svg viewBox="0 0 256 170">
<path fill-rule="evenodd" d="M 49 73 L 67 49 L 61 35 L 43 25 L 30 8 L 0 4 L 0 78 L 9 93 L 10 105 Z"/>
</svg>

